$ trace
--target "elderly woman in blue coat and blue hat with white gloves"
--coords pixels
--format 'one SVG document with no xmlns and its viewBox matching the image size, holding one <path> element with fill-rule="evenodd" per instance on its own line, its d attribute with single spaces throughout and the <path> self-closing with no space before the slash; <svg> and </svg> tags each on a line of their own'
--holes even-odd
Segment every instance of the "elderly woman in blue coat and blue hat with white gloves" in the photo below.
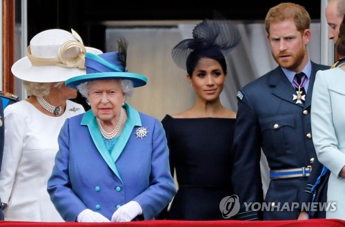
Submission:
<svg viewBox="0 0 345 227">
<path fill-rule="evenodd" d="M 147 78 L 127 72 L 127 42 L 118 44 L 118 52 L 86 53 L 87 74 L 66 81 L 91 107 L 63 125 L 48 180 L 66 221 L 154 219 L 176 193 L 161 122 L 125 103 Z"/>
</svg>

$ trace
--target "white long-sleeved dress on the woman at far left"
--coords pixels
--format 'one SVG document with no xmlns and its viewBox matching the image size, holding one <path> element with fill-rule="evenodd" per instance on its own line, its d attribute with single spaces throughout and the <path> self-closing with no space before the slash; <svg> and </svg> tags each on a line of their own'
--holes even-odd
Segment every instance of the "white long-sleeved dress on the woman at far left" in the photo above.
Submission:
<svg viewBox="0 0 345 227">
<path fill-rule="evenodd" d="M 0 171 L 0 197 L 8 204 L 5 220 L 63 221 L 47 192 L 47 182 L 59 149 L 57 137 L 66 118 L 84 113 L 67 100 L 62 116 L 42 114 L 26 100 L 4 110 L 5 144 Z"/>
</svg>

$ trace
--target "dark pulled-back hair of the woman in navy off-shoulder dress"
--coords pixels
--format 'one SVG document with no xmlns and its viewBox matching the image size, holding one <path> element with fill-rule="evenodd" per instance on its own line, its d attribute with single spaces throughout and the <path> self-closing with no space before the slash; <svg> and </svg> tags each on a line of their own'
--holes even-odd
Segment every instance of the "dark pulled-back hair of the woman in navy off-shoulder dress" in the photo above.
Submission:
<svg viewBox="0 0 345 227">
<path fill-rule="evenodd" d="M 219 47 L 211 46 L 196 49 L 193 50 L 193 52 L 190 52 L 186 61 L 187 73 L 190 77 L 192 77 L 195 67 L 197 66 L 200 58 L 212 58 L 215 61 L 219 62 L 219 64 L 221 65 L 221 69 L 223 69 L 224 74 L 226 74 L 227 67 L 224 55 L 219 50 Z"/>
</svg>

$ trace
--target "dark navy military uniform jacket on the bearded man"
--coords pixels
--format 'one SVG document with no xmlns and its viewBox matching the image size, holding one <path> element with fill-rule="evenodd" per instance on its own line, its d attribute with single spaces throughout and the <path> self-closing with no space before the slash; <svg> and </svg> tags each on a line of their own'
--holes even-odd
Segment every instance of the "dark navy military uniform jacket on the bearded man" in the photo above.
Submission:
<svg viewBox="0 0 345 227">
<path fill-rule="evenodd" d="M 315 74 L 328 66 L 311 62 L 311 77 L 304 105 L 293 100 L 295 88 L 280 67 L 244 86 L 237 95 L 238 110 L 233 151 L 234 193 L 239 196 L 239 219 L 261 218 L 245 210 L 244 202 L 263 202 L 260 175 L 261 149 L 270 170 L 300 168 L 317 158 L 311 135 L 311 96 Z M 265 202 L 299 202 L 306 177 L 271 180 Z M 264 219 L 297 219 L 299 211 L 265 212 Z"/>
</svg>

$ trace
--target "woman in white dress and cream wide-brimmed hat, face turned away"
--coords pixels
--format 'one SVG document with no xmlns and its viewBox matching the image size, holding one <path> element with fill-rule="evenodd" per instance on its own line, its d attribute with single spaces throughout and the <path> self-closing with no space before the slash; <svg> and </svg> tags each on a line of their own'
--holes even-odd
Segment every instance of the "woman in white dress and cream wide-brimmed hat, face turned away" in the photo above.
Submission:
<svg viewBox="0 0 345 227">
<path fill-rule="evenodd" d="M 68 100 L 77 90 L 66 87 L 65 80 L 85 74 L 86 52 L 101 53 L 84 47 L 73 30 L 45 30 L 31 39 L 27 56 L 12 66 L 29 97 L 4 111 L 0 197 L 5 220 L 63 221 L 46 188 L 63 122 L 85 112 Z"/>
</svg>

